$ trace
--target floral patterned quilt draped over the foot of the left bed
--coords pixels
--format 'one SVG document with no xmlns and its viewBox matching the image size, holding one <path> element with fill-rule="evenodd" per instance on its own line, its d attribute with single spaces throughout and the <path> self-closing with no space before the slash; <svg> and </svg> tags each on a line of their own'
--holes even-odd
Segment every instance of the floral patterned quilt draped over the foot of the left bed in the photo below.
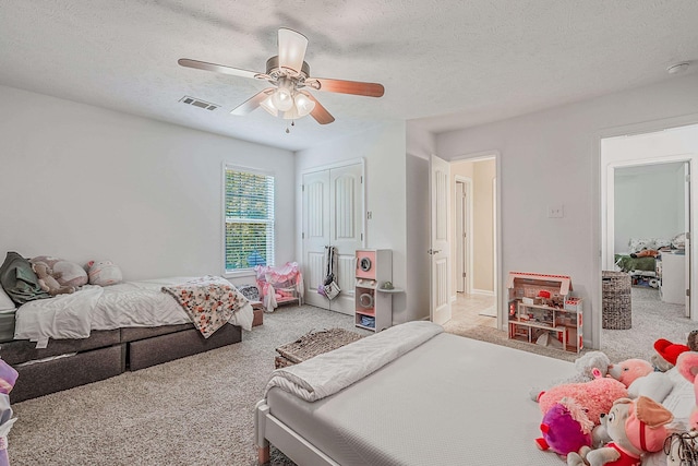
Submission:
<svg viewBox="0 0 698 466">
<path fill-rule="evenodd" d="M 222 277 L 205 276 L 181 285 L 164 286 L 184 309 L 204 338 L 208 338 L 242 308 L 248 299 Z"/>
</svg>

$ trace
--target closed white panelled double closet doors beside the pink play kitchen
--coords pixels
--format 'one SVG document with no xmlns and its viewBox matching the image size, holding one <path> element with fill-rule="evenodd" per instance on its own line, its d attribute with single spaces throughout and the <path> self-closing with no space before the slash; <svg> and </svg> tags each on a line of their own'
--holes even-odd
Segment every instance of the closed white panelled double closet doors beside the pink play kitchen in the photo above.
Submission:
<svg viewBox="0 0 698 466">
<path fill-rule="evenodd" d="M 354 253 L 363 248 L 363 164 L 303 175 L 303 273 L 305 302 L 353 315 Z M 338 252 L 341 292 L 332 301 L 317 292 L 325 246 Z"/>
</svg>

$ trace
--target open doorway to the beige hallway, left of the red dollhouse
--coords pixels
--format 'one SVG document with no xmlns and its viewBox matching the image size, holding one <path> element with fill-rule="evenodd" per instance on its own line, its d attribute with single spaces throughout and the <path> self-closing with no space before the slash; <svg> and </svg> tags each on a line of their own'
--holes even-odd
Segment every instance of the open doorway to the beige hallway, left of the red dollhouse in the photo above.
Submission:
<svg viewBox="0 0 698 466">
<path fill-rule="evenodd" d="M 497 327 L 496 157 L 450 163 L 452 319 Z"/>
</svg>

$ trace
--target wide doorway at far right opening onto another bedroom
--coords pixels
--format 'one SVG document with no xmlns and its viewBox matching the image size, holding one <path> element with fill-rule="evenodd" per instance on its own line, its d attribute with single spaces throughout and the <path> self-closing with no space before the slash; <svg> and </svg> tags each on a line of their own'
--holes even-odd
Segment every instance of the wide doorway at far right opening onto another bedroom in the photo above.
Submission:
<svg viewBox="0 0 698 466">
<path fill-rule="evenodd" d="M 601 268 L 630 275 L 634 320 L 633 330 L 613 337 L 599 320 L 601 349 L 604 338 L 630 336 L 643 322 L 664 325 L 664 335 L 645 336 L 653 342 L 671 332 L 669 322 L 698 320 L 690 298 L 697 289 L 690 244 L 697 160 L 698 126 L 601 139 Z M 642 249 L 659 255 L 640 262 Z"/>
</svg>

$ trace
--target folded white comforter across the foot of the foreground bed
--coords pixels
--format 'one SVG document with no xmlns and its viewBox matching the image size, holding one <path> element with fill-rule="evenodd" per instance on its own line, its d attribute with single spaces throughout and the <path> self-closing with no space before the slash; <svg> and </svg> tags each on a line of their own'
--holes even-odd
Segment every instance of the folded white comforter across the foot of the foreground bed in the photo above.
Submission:
<svg viewBox="0 0 698 466">
<path fill-rule="evenodd" d="M 441 325 L 432 322 L 408 322 L 300 365 L 277 369 L 272 373 L 264 396 L 278 386 L 306 402 L 322 399 L 375 372 L 443 331 Z"/>
</svg>

